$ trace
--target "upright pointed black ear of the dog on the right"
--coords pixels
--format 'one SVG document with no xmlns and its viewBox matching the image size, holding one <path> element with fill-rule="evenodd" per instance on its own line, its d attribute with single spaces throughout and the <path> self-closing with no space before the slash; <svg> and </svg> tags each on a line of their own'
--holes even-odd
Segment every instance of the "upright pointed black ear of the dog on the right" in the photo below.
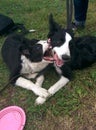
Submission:
<svg viewBox="0 0 96 130">
<path fill-rule="evenodd" d="M 61 29 L 61 25 L 55 22 L 53 19 L 53 15 L 49 15 L 49 33 L 48 33 L 48 38 L 51 38 L 51 36 L 54 35 L 55 32 Z"/>
</svg>

